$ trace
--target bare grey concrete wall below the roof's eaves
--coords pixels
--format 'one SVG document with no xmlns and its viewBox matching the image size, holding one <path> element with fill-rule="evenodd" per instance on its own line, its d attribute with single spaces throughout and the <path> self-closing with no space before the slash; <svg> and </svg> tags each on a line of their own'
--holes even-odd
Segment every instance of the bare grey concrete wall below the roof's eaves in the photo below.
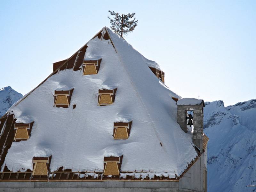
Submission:
<svg viewBox="0 0 256 192">
<path fill-rule="evenodd" d="M 204 192 L 204 154 L 175 181 L 0 182 L 4 192 Z"/>
</svg>

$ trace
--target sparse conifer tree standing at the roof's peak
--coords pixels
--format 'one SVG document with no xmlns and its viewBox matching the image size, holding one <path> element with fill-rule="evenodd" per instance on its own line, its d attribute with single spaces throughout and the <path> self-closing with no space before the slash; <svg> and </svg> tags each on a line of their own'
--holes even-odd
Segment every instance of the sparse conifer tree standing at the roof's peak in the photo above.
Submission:
<svg viewBox="0 0 256 192">
<path fill-rule="evenodd" d="M 114 11 L 108 11 L 113 19 L 108 17 L 110 20 L 110 28 L 118 35 L 125 35 L 126 33 L 132 32 L 138 24 L 138 20 L 134 17 L 135 13 L 122 14 L 115 13 Z M 133 18 L 134 17 L 134 18 Z M 131 19 L 131 20 L 130 20 Z"/>
</svg>

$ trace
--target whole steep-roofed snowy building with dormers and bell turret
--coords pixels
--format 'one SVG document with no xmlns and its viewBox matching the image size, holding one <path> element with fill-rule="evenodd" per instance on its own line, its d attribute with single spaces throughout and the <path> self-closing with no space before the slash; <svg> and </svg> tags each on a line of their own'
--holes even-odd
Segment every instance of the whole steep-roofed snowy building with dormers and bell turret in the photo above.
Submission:
<svg viewBox="0 0 256 192">
<path fill-rule="evenodd" d="M 203 108 L 104 27 L 1 117 L 0 190 L 206 191 Z"/>
</svg>

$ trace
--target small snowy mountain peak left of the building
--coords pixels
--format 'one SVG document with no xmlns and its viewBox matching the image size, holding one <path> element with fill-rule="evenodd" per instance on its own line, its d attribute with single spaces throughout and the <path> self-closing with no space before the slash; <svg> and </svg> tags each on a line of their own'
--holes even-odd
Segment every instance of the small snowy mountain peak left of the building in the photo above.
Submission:
<svg viewBox="0 0 256 192">
<path fill-rule="evenodd" d="M 22 97 L 22 94 L 7 86 L 0 89 L 0 116 L 3 116 L 8 108 Z"/>
</svg>

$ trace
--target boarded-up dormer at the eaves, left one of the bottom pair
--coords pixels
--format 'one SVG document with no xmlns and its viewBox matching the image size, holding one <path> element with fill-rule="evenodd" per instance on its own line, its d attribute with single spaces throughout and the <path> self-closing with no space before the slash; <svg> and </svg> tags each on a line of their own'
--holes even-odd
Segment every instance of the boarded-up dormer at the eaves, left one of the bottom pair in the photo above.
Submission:
<svg viewBox="0 0 256 192">
<path fill-rule="evenodd" d="M 48 176 L 50 163 L 52 156 L 50 157 L 33 157 L 33 176 Z"/>
</svg>

